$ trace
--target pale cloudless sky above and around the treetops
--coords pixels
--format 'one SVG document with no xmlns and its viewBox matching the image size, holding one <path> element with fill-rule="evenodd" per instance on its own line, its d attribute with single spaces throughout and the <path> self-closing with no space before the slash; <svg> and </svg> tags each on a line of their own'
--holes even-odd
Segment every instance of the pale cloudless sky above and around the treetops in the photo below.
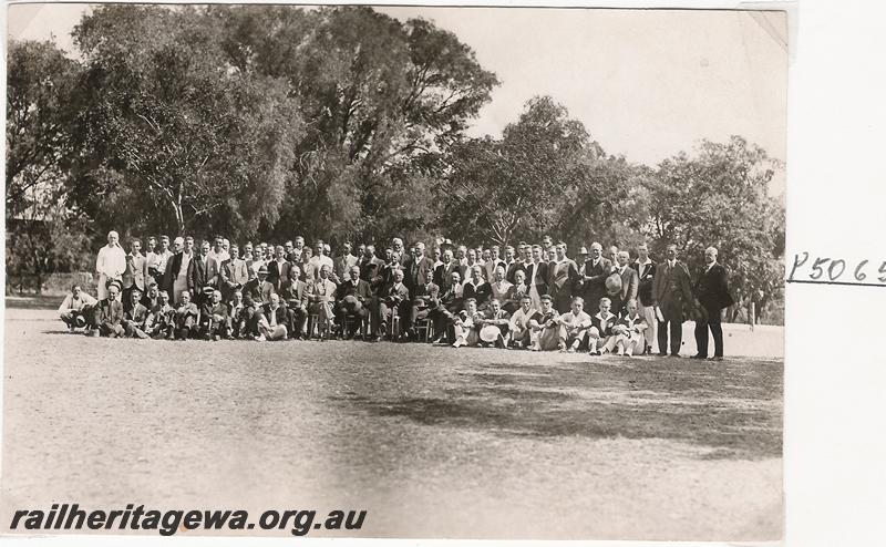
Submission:
<svg viewBox="0 0 886 547">
<path fill-rule="evenodd" d="M 85 4 L 19 4 L 9 35 L 73 51 Z M 552 95 L 610 154 L 655 165 L 701 138 L 738 134 L 785 159 L 787 51 L 781 12 L 381 8 L 423 17 L 474 49 L 502 84 L 470 133 L 501 136 L 534 95 Z M 784 175 L 772 194 L 784 189 Z"/>
</svg>

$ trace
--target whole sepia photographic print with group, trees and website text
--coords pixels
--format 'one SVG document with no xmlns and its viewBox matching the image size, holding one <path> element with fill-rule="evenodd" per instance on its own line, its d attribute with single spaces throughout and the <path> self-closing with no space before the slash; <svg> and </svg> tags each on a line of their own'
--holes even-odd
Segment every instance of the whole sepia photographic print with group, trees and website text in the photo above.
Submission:
<svg viewBox="0 0 886 547">
<path fill-rule="evenodd" d="M 782 540 L 787 12 L 7 10 L 3 534 Z"/>
</svg>

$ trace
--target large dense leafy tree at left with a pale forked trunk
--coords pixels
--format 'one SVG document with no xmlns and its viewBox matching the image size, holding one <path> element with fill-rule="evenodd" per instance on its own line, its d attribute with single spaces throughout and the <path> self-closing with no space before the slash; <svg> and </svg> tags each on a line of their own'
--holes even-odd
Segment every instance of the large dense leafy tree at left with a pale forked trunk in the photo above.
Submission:
<svg viewBox="0 0 886 547">
<path fill-rule="evenodd" d="M 205 10 L 103 6 L 74 30 L 85 59 L 79 194 L 135 229 L 257 233 L 279 216 L 296 101 L 227 63 Z"/>
</svg>

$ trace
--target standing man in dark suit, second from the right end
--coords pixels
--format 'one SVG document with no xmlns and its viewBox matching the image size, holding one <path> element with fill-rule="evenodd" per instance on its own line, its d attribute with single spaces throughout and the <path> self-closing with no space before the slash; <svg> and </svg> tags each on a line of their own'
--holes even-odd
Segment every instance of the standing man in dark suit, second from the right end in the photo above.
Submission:
<svg viewBox="0 0 886 547">
<path fill-rule="evenodd" d="M 670 326 L 671 357 L 680 357 L 683 343 L 683 306 L 692 302 L 692 288 L 689 270 L 677 260 L 677 246 L 669 245 L 667 260 L 656 268 L 652 281 L 653 306 L 659 309 L 663 321 L 658 322 L 659 355 L 668 354 L 668 327 Z"/>
</svg>

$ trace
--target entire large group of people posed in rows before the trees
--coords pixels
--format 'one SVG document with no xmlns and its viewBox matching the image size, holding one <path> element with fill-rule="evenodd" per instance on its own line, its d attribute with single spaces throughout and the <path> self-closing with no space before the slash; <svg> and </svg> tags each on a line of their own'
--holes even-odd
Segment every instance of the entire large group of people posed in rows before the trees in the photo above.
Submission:
<svg viewBox="0 0 886 547">
<path fill-rule="evenodd" d="M 172 247 L 171 247 L 172 244 Z M 79 285 L 59 308 L 93 337 L 258 341 L 330 338 L 680 357 L 696 320 L 698 359 L 722 360 L 720 317 L 732 299 L 717 249 L 693 283 L 677 246 L 656 264 L 646 245 L 599 242 L 569 258 L 565 242 L 467 247 L 401 238 L 341 245 L 245 242 L 218 236 L 132 239 L 116 231 L 96 259 L 97 298 Z M 714 351 L 709 358 L 709 331 Z"/>
</svg>

